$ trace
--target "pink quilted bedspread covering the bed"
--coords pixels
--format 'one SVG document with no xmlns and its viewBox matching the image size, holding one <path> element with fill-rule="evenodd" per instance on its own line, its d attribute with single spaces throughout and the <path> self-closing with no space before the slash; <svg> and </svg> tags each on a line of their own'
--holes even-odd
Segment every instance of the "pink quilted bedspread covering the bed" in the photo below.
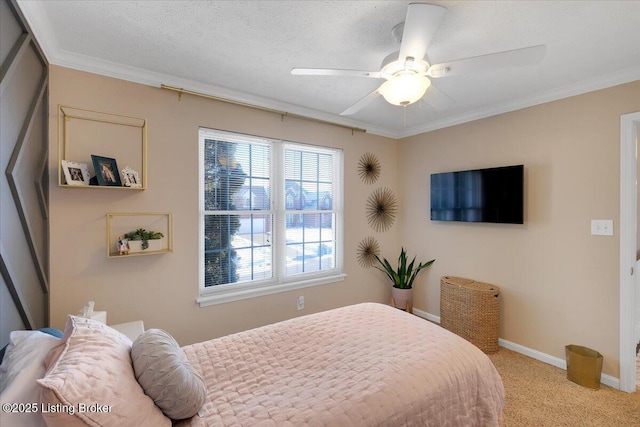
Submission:
<svg viewBox="0 0 640 427">
<path fill-rule="evenodd" d="M 181 425 L 497 426 L 489 358 L 417 316 L 365 303 L 184 347 L 207 402 Z"/>
</svg>

